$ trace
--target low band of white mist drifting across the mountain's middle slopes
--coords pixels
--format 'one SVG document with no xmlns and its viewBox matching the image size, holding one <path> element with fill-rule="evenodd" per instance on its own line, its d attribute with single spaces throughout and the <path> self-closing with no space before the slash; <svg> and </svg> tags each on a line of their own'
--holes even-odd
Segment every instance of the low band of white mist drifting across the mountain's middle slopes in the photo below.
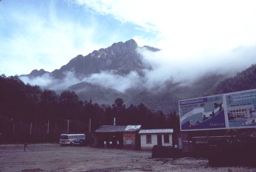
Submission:
<svg viewBox="0 0 256 172">
<path fill-rule="evenodd" d="M 138 87 L 143 81 L 143 78 L 134 71 L 128 73 L 126 76 L 116 75 L 111 71 L 102 71 L 101 73 L 93 73 L 83 79 L 77 78 L 73 71 L 66 71 L 63 74 L 63 79 L 55 79 L 49 73 L 33 78 L 20 76 L 20 79 L 24 83 L 39 85 L 42 89 L 64 90 L 79 82 L 88 82 L 93 85 L 112 88 L 122 93 L 128 88 Z"/>
</svg>

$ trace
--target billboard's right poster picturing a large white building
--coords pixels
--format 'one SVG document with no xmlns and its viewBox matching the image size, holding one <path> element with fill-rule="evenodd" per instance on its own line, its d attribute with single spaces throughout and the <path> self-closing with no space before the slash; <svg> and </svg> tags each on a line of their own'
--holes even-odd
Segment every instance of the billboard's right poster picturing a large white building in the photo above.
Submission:
<svg viewBox="0 0 256 172">
<path fill-rule="evenodd" d="M 229 128 L 256 127 L 256 90 L 225 94 Z"/>
</svg>

